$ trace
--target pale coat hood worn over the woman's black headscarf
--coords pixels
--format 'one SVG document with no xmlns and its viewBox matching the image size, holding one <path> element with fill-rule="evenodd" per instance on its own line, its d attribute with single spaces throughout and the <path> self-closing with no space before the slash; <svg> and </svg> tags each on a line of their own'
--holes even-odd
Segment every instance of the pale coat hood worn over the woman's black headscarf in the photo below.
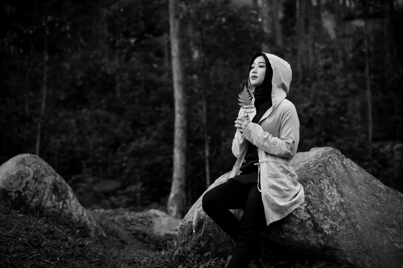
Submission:
<svg viewBox="0 0 403 268">
<path fill-rule="evenodd" d="M 271 100 L 273 103 L 273 109 L 275 109 L 278 104 L 280 104 L 286 97 L 290 89 L 291 79 L 292 79 L 292 71 L 291 66 L 276 55 L 264 53 L 267 56 L 267 59 L 270 62 L 271 68 L 273 69 L 273 77 L 271 80 L 272 90 L 271 90 Z M 255 87 L 252 86 L 249 81 L 250 92 L 253 95 L 253 91 Z"/>
</svg>

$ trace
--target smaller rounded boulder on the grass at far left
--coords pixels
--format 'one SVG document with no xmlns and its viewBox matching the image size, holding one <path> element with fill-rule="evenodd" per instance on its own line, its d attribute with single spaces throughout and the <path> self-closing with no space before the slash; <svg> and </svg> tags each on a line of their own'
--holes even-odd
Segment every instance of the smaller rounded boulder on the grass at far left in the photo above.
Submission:
<svg viewBox="0 0 403 268">
<path fill-rule="evenodd" d="M 57 216 L 92 237 L 106 236 L 66 181 L 36 155 L 18 155 L 0 166 L 0 199 Z"/>
</svg>

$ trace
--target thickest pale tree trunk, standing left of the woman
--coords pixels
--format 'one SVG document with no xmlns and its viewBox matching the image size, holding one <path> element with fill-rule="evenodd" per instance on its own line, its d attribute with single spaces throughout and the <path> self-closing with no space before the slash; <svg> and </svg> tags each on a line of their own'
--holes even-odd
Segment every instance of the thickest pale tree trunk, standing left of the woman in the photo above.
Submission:
<svg viewBox="0 0 403 268">
<path fill-rule="evenodd" d="M 182 218 L 186 204 L 186 99 L 184 75 L 180 51 L 179 0 L 169 0 L 169 30 L 172 55 L 173 92 L 175 102 L 175 123 L 173 141 L 173 175 L 168 199 L 168 214 Z"/>
</svg>

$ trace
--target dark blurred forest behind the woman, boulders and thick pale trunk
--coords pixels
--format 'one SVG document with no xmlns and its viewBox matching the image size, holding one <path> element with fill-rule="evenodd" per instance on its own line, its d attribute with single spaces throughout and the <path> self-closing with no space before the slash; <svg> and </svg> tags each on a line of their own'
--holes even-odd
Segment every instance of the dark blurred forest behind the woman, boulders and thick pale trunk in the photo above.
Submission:
<svg viewBox="0 0 403 268">
<path fill-rule="evenodd" d="M 235 163 L 248 64 L 290 63 L 298 151 L 331 146 L 403 192 L 396 0 L 180 2 L 186 208 Z M 174 95 L 167 0 L 1 4 L 0 164 L 37 154 L 85 207 L 165 210 Z"/>
</svg>

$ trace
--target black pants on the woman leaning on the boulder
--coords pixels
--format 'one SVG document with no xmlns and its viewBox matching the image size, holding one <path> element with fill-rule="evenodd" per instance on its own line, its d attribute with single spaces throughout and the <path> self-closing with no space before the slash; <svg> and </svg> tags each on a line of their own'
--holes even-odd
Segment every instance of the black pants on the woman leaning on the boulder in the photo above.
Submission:
<svg viewBox="0 0 403 268">
<path fill-rule="evenodd" d="M 237 243 L 227 268 L 248 267 L 253 257 L 260 254 L 259 235 L 266 226 L 266 217 L 261 193 L 257 184 L 241 184 L 226 181 L 204 194 L 204 212 Z M 239 222 L 229 209 L 243 209 Z"/>
</svg>

